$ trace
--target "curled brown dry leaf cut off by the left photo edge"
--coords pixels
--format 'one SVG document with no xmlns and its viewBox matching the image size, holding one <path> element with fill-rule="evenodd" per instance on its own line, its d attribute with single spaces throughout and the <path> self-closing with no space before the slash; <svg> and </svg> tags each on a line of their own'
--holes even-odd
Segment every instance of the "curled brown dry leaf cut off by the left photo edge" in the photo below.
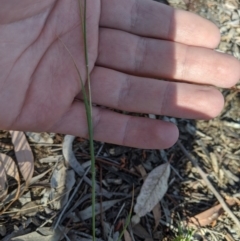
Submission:
<svg viewBox="0 0 240 241">
<path fill-rule="evenodd" d="M 6 209 L 8 209 L 11 206 L 11 204 L 18 198 L 18 195 L 20 193 L 20 176 L 18 173 L 17 166 L 10 156 L 0 153 L 0 163 L 5 170 L 5 174 L 14 178 L 18 183 L 18 187 L 15 191 L 15 195 L 12 197 L 11 200 L 9 200 L 10 203 L 6 205 L 8 203 L 8 201 L 6 200 L 7 196 L 5 196 L 5 199 L 2 200 L 1 206 L 5 206 L 5 208 L 0 212 L 1 214 Z"/>
</svg>

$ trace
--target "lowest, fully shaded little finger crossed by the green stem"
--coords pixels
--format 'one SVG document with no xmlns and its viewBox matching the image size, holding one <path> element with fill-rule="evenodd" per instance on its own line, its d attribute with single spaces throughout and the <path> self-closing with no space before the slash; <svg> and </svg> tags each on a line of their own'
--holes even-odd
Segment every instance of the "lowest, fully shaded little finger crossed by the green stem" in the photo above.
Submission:
<svg viewBox="0 0 240 241">
<path fill-rule="evenodd" d="M 93 107 L 93 123 L 95 140 L 118 145 L 164 149 L 178 138 L 178 129 L 172 123 L 122 115 L 98 107 Z M 84 104 L 74 102 L 51 131 L 88 138 Z"/>
</svg>

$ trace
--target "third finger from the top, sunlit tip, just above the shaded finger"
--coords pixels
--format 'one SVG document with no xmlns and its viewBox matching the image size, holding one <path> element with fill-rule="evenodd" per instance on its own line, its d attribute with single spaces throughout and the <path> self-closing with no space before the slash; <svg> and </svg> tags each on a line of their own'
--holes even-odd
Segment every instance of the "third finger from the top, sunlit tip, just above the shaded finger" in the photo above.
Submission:
<svg viewBox="0 0 240 241">
<path fill-rule="evenodd" d="M 210 119 L 224 105 L 214 87 L 141 78 L 101 67 L 91 74 L 91 94 L 98 105 L 179 118 Z"/>
</svg>

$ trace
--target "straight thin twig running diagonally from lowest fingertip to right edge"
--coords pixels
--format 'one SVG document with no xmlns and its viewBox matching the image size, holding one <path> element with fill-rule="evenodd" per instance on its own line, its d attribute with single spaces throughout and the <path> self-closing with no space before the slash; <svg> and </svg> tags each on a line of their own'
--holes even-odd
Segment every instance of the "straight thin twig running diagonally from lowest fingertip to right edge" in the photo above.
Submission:
<svg viewBox="0 0 240 241">
<path fill-rule="evenodd" d="M 194 167 L 197 169 L 199 175 L 202 177 L 202 179 L 204 180 L 205 184 L 207 185 L 207 187 L 209 188 L 209 190 L 212 191 L 212 193 L 214 194 L 214 196 L 217 198 L 217 200 L 219 201 L 219 203 L 222 205 L 223 209 L 225 210 L 225 212 L 232 218 L 232 220 L 234 221 L 234 223 L 236 224 L 236 227 L 238 229 L 240 229 L 240 222 L 238 220 L 238 218 L 233 214 L 233 212 L 231 211 L 231 209 L 227 206 L 227 204 L 225 203 L 224 199 L 221 197 L 221 195 L 217 192 L 217 190 L 213 187 L 212 183 L 208 180 L 207 178 L 207 174 L 200 168 L 200 166 L 198 165 L 197 161 L 188 153 L 188 151 L 185 149 L 185 147 L 181 144 L 180 141 L 177 142 L 178 146 L 180 147 L 180 149 L 182 150 L 182 152 L 185 154 L 185 156 L 192 162 L 192 164 L 194 165 Z"/>
</svg>

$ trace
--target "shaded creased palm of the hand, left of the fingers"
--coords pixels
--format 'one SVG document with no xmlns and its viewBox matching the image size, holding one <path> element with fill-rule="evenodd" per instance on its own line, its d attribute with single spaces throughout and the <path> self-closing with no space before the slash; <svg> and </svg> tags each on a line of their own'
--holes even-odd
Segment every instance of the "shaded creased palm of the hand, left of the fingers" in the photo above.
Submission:
<svg viewBox="0 0 240 241">
<path fill-rule="evenodd" d="M 97 57 L 100 6 L 92 3 L 88 29 L 90 71 Z M 21 4 L 20 4 L 21 5 Z M 51 130 L 69 111 L 80 92 L 77 72 L 62 43 L 69 48 L 85 80 L 83 38 L 79 26 L 78 2 L 45 1 L 27 6 L 29 17 L 19 11 L 16 21 L 1 26 L 6 47 L 1 48 L 1 112 L 4 128 Z M 41 10 L 41 7 L 43 10 Z M 27 12 L 27 11 L 26 11 Z M 22 14 L 22 16 L 21 16 Z"/>
</svg>

